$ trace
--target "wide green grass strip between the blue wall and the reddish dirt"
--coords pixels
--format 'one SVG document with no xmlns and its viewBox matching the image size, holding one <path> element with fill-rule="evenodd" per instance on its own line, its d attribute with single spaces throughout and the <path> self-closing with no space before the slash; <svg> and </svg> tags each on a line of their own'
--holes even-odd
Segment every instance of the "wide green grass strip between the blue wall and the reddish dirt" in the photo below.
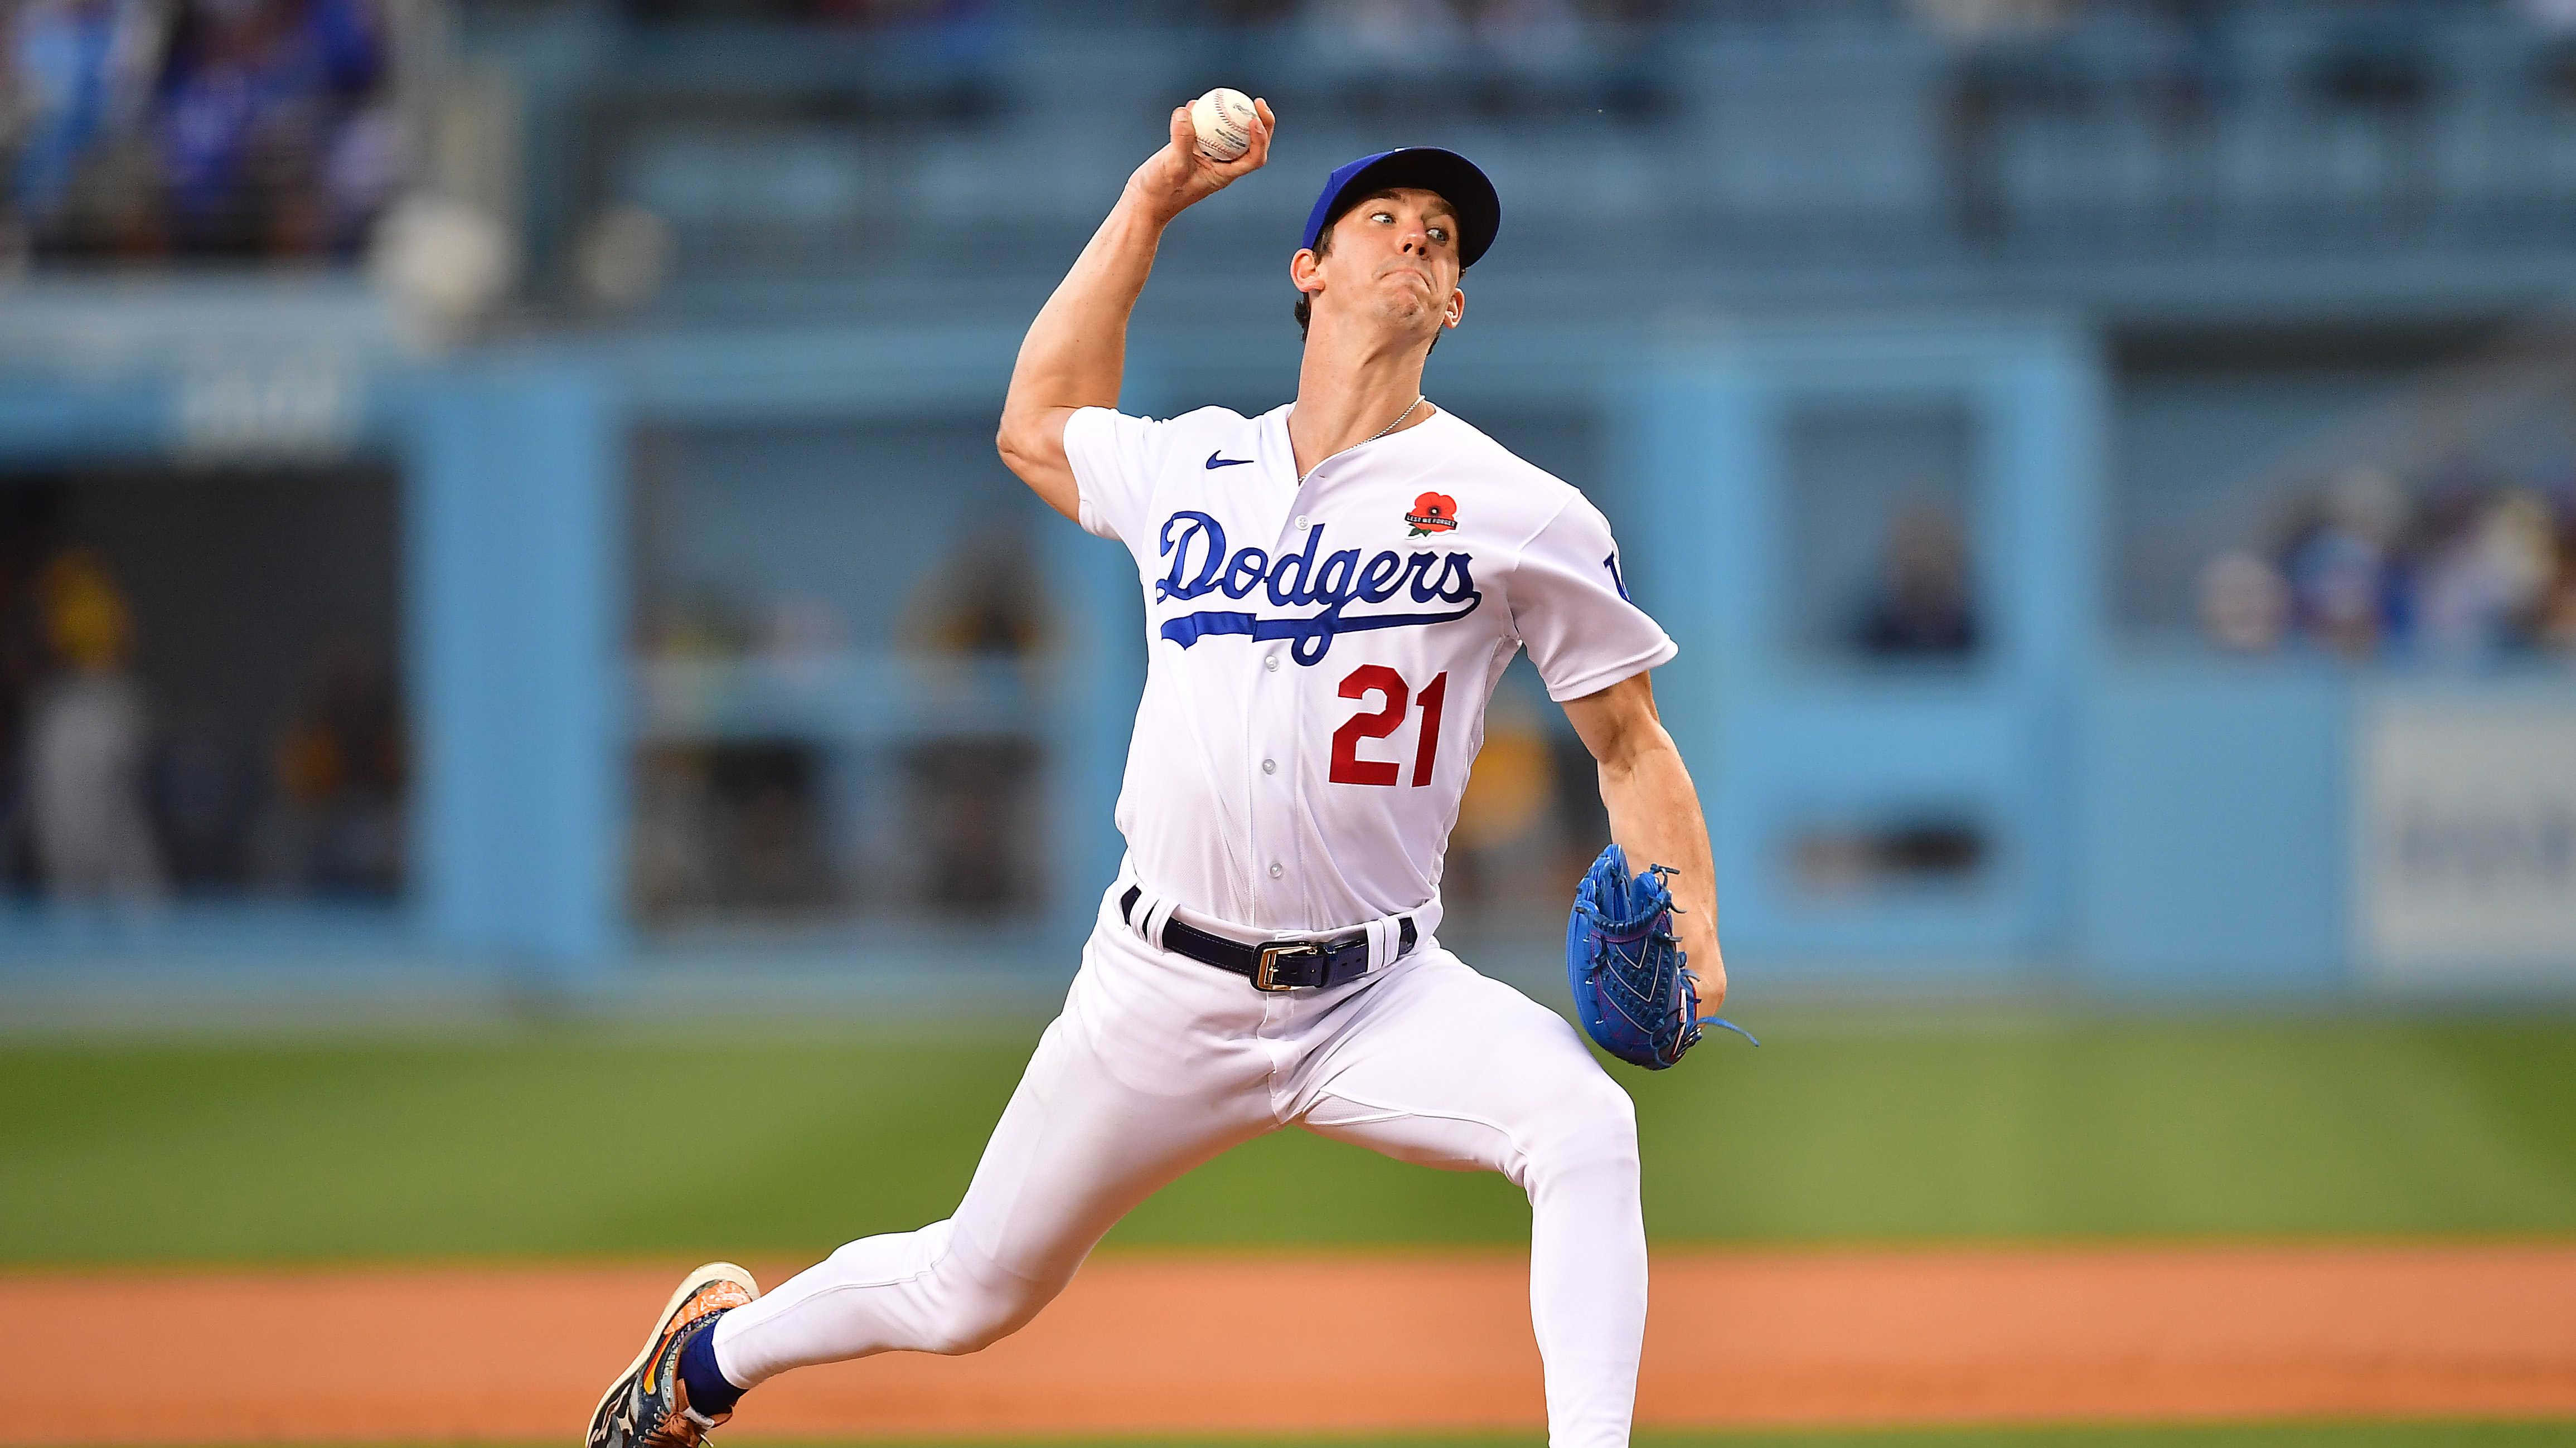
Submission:
<svg viewBox="0 0 2576 1448">
<path fill-rule="evenodd" d="M 1659 1242 L 2576 1232 L 2568 1015 L 1759 1025 L 1759 1051 L 1721 1038 L 1674 1072 L 1620 1069 Z M 1033 1033 L 18 1038 L 0 1043 L 0 1260 L 809 1255 L 945 1216 Z M 1113 1242 L 1525 1229 L 1497 1177 L 1291 1131 L 1185 1177 Z M 2522 1443 L 2496 1433 L 2478 1440 Z"/>
</svg>

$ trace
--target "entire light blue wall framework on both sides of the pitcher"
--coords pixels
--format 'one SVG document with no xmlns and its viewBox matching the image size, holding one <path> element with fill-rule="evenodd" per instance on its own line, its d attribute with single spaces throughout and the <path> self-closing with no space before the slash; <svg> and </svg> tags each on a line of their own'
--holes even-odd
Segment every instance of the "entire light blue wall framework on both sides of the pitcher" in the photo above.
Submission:
<svg viewBox="0 0 2576 1448">
<path fill-rule="evenodd" d="M 129 951 L 410 953 L 600 984 L 634 958 L 626 915 L 629 441 L 649 425 L 809 428 L 989 415 L 1015 335 L 739 332 L 515 348 L 381 366 L 345 446 L 399 459 L 407 662 L 420 776 L 407 904 L 188 910 Z M 1278 394 L 1278 368 L 1190 368 L 1218 348 L 1141 340 L 1131 410 Z M 1190 376 L 1190 384 L 1180 384 Z M 1659 678 L 1718 845 L 1728 948 L 1775 979 L 2020 979 L 2097 992 L 2313 995 L 2354 982 L 2349 670 L 2197 652 L 2138 657 L 2110 624 L 2110 376 L 2094 332 L 2017 322 L 1811 322 L 1610 348 L 1494 335 L 1435 358 L 1466 415 L 1597 415 L 1628 577 L 1682 660 Z M 1473 399 L 1476 405 L 1468 405 Z M 1793 616 L 1788 417 L 1955 407 L 1986 642 L 1968 662 L 1819 652 Z M 0 461 L 188 441 L 162 376 L 0 386 Z M 1051 755 L 1051 915 L 1061 974 L 1110 879 L 1110 804 L 1144 672 L 1128 559 L 1043 528 L 1061 618 Z M 2378 683 L 2378 693 L 2403 683 Z M 2530 685 L 2524 685 L 2530 691 Z M 2543 685 L 2571 698 L 2576 688 Z M 1986 832 L 1965 879 L 1819 891 L 1788 866 L 1808 830 L 1906 814 Z M 44 910 L 0 917 L 0 956 L 64 958 Z"/>
</svg>

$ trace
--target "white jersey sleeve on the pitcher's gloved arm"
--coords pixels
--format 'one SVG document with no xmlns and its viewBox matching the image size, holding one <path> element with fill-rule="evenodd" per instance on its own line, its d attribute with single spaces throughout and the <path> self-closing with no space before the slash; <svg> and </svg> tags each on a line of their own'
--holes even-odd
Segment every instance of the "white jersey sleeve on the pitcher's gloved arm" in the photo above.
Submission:
<svg viewBox="0 0 2576 1448">
<path fill-rule="evenodd" d="M 1600 693 L 1680 652 L 1628 600 L 1610 520 L 1582 497 L 1569 497 L 1522 546 L 1512 569 L 1512 631 L 1558 703 Z"/>
</svg>

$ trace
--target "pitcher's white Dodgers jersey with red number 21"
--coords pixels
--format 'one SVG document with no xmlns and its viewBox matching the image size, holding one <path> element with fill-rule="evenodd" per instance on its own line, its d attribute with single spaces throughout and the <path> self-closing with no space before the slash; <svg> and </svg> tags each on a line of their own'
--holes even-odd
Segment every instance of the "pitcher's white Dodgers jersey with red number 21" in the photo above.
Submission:
<svg viewBox="0 0 2576 1448">
<path fill-rule="evenodd" d="M 1252 930 L 1440 920 L 1484 709 L 1522 647 L 1556 701 L 1674 654 L 1582 492 L 1450 412 L 1298 484 L 1288 407 L 1064 425 L 1082 526 L 1136 557 L 1151 654 L 1118 796 L 1157 897 Z"/>
</svg>

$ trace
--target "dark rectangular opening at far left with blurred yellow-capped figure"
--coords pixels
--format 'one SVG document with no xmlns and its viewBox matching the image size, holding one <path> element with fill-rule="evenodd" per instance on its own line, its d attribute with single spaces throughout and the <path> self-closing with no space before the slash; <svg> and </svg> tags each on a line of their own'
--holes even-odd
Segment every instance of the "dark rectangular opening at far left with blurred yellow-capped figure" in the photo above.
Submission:
<svg viewBox="0 0 2576 1448">
<path fill-rule="evenodd" d="M 376 459 L 0 466 L 0 902 L 392 907 L 397 515 Z"/>
</svg>

